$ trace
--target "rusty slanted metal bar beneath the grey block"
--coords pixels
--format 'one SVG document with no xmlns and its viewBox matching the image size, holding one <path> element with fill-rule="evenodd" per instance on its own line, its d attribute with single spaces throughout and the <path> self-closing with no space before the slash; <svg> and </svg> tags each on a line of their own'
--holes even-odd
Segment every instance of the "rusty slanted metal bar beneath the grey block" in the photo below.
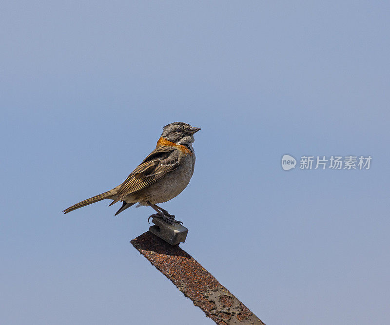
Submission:
<svg viewBox="0 0 390 325">
<path fill-rule="evenodd" d="M 150 231 L 131 243 L 216 324 L 264 324 L 178 245 L 171 246 Z"/>
</svg>

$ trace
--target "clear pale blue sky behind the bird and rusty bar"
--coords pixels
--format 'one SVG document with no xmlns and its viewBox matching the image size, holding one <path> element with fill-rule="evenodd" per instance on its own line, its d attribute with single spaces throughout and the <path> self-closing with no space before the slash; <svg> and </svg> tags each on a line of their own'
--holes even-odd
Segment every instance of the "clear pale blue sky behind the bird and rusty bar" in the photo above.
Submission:
<svg viewBox="0 0 390 325">
<path fill-rule="evenodd" d="M 388 1 L 2 1 L 0 323 L 213 324 L 134 249 L 107 191 L 195 134 L 162 204 L 266 324 L 389 324 Z M 281 157 L 371 155 L 370 170 Z M 185 320 L 185 321 L 184 321 Z"/>
</svg>

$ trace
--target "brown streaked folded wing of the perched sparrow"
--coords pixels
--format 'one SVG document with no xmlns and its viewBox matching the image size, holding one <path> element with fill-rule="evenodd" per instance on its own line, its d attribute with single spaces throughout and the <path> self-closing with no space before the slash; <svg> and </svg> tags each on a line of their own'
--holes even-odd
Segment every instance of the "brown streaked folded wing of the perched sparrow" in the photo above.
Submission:
<svg viewBox="0 0 390 325">
<path fill-rule="evenodd" d="M 117 198 L 110 204 L 113 205 L 123 200 L 127 195 L 142 190 L 155 183 L 168 172 L 174 171 L 179 157 L 175 147 L 158 147 L 150 153 L 140 165 L 120 185 Z"/>
</svg>

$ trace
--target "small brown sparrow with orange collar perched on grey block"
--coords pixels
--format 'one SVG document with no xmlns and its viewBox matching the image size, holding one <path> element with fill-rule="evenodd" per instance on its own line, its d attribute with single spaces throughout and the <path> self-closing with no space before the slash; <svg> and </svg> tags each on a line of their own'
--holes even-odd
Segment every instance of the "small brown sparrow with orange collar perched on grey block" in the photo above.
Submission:
<svg viewBox="0 0 390 325">
<path fill-rule="evenodd" d="M 194 173 L 195 152 L 192 144 L 194 134 L 200 130 L 183 122 L 164 126 L 162 134 L 153 150 L 130 173 L 124 182 L 110 191 L 95 195 L 63 210 L 65 214 L 89 204 L 110 199 L 109 206 L 122 202 L 115 215 L 138 203 L 150 206 L 169 224 L 181 223 L 175 215 L 157 206 L 179 195 L 189 184 Z M 156 215 L 155 214 L 155 215 Z"/>
</svg>

